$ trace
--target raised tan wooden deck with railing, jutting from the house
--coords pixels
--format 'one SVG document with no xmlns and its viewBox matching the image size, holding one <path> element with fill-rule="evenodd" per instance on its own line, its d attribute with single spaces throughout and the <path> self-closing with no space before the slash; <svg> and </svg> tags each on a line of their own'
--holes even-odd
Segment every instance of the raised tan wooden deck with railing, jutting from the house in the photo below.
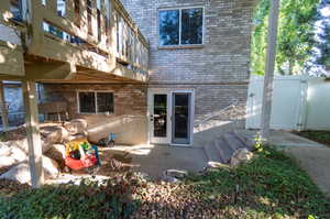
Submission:
<svg viewBox="0 0 330 219">
<path fill-rule="evenodd" d="M 0 33 L 2 80 L 148 78 L 148 43 L 119 0 L 1 0 Z"/>
</svg>

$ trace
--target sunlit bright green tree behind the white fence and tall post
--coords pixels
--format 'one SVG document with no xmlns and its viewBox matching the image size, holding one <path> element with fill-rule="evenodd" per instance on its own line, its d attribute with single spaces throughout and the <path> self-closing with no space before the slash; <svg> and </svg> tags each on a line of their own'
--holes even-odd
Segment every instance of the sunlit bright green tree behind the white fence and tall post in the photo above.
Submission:
<svg viewBox="0 0 330 219">
<path fill-rule="evenodd" d="M 295 75 L 308 69 L 312 56 L 315 22 L 320 0 L 282 0 L 276 55 L 276 72 Z M 260 1 L 254 13 L 252 34 L 252 73 L 263 75 L 265 64 L 270 1 Z"/>
</svg>

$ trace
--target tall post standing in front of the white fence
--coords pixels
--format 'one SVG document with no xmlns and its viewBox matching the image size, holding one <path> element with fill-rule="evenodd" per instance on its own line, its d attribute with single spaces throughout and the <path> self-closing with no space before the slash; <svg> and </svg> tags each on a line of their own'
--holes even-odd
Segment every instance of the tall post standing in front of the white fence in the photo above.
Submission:
<svg viewBox="0 0 330 219">
<path fill-rule="evenodd" d="M 264 77 L 263 106 L 261 118 L 261 136 L 267 141 L 270 138 L 271 116 L 272 116 L 272 98 L 274 84 L 274 69 L 276 57 L 276 40 L 279 15 L 279 0 L 271 1 L 270 26 L 267 40 L 267 57 Z"/>
</svg>

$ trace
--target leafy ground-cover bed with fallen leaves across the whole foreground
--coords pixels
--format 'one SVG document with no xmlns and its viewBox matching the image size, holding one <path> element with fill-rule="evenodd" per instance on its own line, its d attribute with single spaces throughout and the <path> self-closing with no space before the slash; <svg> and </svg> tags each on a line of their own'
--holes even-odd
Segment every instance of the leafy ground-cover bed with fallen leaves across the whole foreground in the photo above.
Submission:
<svg viewBox="0 0 330 219">
<path fill-rule="evenodd" d="M 0 199 L 0 218 L 329 218 L 326 199 L 294 161 L 273 149 L 238 168 L 180 184 L 123 174 L 102 185 L 45 186 Z"/>
</svg>

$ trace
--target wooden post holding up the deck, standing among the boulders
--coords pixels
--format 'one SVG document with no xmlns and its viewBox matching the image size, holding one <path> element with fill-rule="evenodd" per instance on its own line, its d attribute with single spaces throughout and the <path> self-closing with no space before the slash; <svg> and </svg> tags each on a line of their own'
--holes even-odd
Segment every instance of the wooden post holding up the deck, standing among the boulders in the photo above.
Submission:
<svg viewBox="0 0 330 219">
<path fill-rule="evenodd" d="M 25 107 L 25 123 L 29 143 L 29 165 L 32 187 L 41 187 L 44 183 L 42 162 L 42 144 L 38 129 L 37 98 L 34 81 L 23 81 L 23 97 Z"/>
</svg>

